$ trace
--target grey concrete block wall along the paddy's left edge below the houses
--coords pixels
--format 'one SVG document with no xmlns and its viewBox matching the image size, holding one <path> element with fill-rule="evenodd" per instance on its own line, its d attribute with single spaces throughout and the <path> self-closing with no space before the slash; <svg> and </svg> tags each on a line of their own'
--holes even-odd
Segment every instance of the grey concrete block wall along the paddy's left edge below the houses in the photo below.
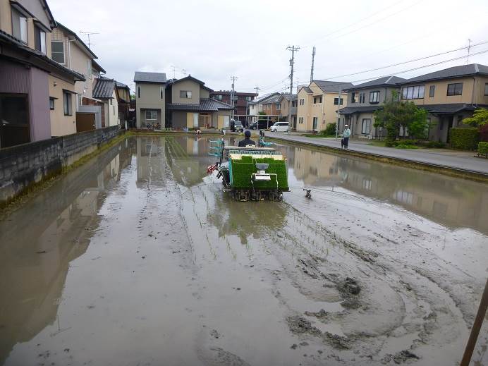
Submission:
<svg viewBox="0 0 488 366">
<path fill-rule="evenodd" d="M 0 205 L 94 152 L 118 133 L 118 126 L 112 126 L 1 149 Z"/>
</svg>

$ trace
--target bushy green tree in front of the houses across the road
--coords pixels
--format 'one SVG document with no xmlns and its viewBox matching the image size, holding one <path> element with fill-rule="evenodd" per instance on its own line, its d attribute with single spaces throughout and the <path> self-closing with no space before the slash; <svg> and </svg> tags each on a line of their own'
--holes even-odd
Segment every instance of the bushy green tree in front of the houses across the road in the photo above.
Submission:
<svg viewBox="0 0 488 366">
<path fill-rule="evenodd" d="M 386 128 L 386 140 L 396 140 L 400 128 L 406 128 L 412 138 L 424 138 L 427 111 L 418 108 L 413 102 L 399 100 L 398 93 L 394 92 L 391 100 L 374 112 L 373 126 Z"/>
</svg>

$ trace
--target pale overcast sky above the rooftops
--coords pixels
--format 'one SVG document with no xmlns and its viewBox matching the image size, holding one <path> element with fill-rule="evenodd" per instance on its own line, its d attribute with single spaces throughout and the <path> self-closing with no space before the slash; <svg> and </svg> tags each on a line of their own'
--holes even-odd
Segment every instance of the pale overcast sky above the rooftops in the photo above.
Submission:
<svg viewBox="0 0 488 366">
<path fill-rule="evenodd" d="M 260 94 L 289 90 L 288 45 L 295 87 L 315 79 L 350 81 L 384 75 L 409 78 L 466 63 L 472 44 L 488 42 L 486 0 L 167 1 L 48 0 L 54 18 L 74 32 L 98 32 L 92 50 L 106 70 L 133 89 L 134 71 L 183 77 L 183 69 L 214 90 Z M 85 41 L 87 37 L 79 34 Z M 429 59 L 362 73 L 394 63 Z M 488 43 L 470 49 L 470 63 L 488 65 Z M 173 66 L 176 71 L 173 72 Z M 402 71 L 408 71 L 401 73 Z M 355 75 L 350 75 L 356 73 Z M 288 89 L 286 89 L 288 87 Z M 293 90 L 295 92 L 295 90 Z"/>
</svg>

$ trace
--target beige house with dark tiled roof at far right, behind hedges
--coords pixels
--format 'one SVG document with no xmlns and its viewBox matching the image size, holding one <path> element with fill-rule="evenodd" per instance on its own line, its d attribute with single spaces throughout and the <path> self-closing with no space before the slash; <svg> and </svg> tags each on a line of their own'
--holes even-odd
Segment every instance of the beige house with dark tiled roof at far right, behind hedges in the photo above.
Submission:
<svg viewBox="0 0 488 366">
<path fill-rule="evenodd" d="M 464 126 L 477 107 L 488 107 L 488 66 L 472 63 L 400 83 L 401 99 L 429 112 L 429 140 L 449 142 L 449 129 Z"/>
</svg>

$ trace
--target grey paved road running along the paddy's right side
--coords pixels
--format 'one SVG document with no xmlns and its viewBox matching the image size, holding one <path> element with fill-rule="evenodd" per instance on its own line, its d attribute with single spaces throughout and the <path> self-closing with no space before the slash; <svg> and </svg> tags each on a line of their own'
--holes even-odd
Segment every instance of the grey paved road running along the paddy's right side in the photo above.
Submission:
<svg viewBox="0 0 488 366">
<path fill-rule="evenodd" d="M 310 145 L 327 146 L 341 150 L 341 140 L 329 138 L 307 138 L 303 135 L 287 135 L 286 133 L 266 133 L 270 138 L 279 138 L 286 141 L 305 142 Z M 367 142 L 349 141 L 349 150 L 374 154 L 382 157 L 415 161 L 436 166 L 472 171 L 474 173 L 488 174 L 488 160 L 473 157 L 473 152 L 456 152 L 453 150 L 418 149 L 403 150 L 391 147 L 378 147 L 367 145 Z"/>
</svg>

